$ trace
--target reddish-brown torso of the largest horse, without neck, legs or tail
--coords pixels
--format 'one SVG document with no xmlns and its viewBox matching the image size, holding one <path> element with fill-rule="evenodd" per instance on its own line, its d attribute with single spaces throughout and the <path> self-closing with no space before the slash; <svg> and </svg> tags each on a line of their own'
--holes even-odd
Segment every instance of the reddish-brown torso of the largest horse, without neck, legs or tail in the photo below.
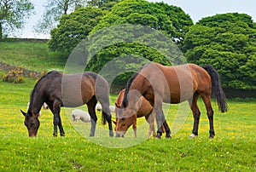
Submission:
<svg viewBox="0 0 256 172">
<path fill-rule="evenodd" d="M 154 72 L 152 72 L 156 66 Z M 211 77 L 209 74 L 195 64 L 179 66 L 162 66 L 152 63 L 148 67 L 149 82 L 154 89 L 160 89 L 164 101 L 179 103 L 188 100 L 195 94 L 195 91 L 204 91 L 211 94 Z"/>
</svg>

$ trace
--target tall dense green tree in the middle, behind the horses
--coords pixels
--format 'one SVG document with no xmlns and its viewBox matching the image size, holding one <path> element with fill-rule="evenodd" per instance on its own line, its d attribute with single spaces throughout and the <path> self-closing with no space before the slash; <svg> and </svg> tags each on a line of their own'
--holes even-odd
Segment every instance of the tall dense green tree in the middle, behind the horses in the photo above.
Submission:
<svg viewBox="0 0 256 172">
<path fill-rule="evenodd" d="M 177 49 L 172 51 L 175 49 L 173 47 L 177 47 L 173 42 L 181 43 L 185 33 L 189 31 L 189 26 L 192 25 L 193 21 L 188 14 L 185 14 L 182 9 L 166 3 L 148 3 L 145 0 L 125 0 L 117 3 L 90 33 L 94 35 L 109 28 L 106 32 L 108 39 L 106 39 L 107 36 L 96 37 L 95 43 L 108 44 L 108 40 L 111 40 L 113 44 L 99 49 L 89 61 L 88 69 L 100 72 L 109 61 L 125 55 L 131 54 L 138 59 L 143 57 L 144 60 L 131 58 L 128 65 L 119 60 L 115 62 L 116 65 L 113 68 L 117 71 L 119 71 L 118 69 L 126 71 L 118 77 L 118 80 L 121 80 L 115 81 L 115 83 L 125 83 L 127 78 L 131 77 L 131 66 L 137 66 L 138 69 L 148 61 L 160 62 L 167 66 L 182 63 L 178 60 L 179 51 Z M 122 28 L 123 26 L 124 28 Z M 146 32 L 143 32 L 143 28 L 137 30 L 136 27 L 140 26 L 145 26 L 148 30 Z M 125 32 L 122 32 L 123 30 Z M 152 31 L 158 31 L 162 35 L 157 35 L 157 32 Z M 130 37 L 137 37 L 138 42 L 130 40 Z M 163 37 L 169 37 L 169 41 L 173 42 L 169 43 Z M 151 43 L 147 43 L 147 41 Z M 166 51 L 169 51 L 169 54 Z M 171 60 L 166 56 L 172 56 Z M 132 68 L 133 72 L 134 67 Z"/>
</svg>

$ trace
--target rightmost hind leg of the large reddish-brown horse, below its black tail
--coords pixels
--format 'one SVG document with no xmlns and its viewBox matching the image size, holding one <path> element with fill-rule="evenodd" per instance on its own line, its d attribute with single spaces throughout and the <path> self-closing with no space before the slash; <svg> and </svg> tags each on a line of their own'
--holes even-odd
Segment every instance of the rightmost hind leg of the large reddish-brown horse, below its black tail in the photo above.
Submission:
<svg viewBox="0 0 256 172">
<path fill-rule="evenodd" d="M 215 132 L 213 129 L 213 111 L 212 111 L 211 97 L 210 97 L 210 95 L 201 95 L 201 98 L 203 99 L 203 101 L 206 105 L 206 108 L 207 108 L 207 116 L 208 116 L 209 124 L 210 124 L 209 138 L 212 139 L 215 135 Z"/>
</svg>

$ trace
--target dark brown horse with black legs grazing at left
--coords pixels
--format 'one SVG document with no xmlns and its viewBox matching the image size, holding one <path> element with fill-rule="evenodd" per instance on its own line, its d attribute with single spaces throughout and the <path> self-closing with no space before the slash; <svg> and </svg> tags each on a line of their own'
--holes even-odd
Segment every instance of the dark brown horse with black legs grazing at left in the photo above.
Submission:
<svg viewBox="0 0 256 172">
<path fill-rule="evenodd" d="M 100 75 L 94 72 L 79 74 L 62 74 L 61 72 L 49 72 L 36 83 L 30 97 L 27 112 L 21 112 L 25 116 L 25 125 L 29 136 L 36 136 L 39 128 L 38 113 L 44 102 L 54 114 L 54 136 L 57 136 L 57 126 L 61 136 L 64 130 L 61 124 L 61 106 L 76 107 L 84 104 L 88 107 L 91 118 L 90 136 L 95 135 L 97 100 L 102 104 L 102 119 L 108 121 L 109 135 L 113 136 L 111 113 L 109 112 L 108 83 Z"/>
</svg>

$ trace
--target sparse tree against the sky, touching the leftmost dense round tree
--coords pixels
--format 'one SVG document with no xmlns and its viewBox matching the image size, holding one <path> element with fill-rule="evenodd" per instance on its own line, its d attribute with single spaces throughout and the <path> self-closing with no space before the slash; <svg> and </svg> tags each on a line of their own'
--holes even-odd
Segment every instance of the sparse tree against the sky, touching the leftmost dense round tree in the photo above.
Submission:
<svg viewBox="0 0 256 172">
<path fill-rule="evenodd" d="M 44 14 L 35 27 L 36 32 L 49 33 L 57 25 L 63 14 L 84 7 L 86 0 L 50 0 L 44 4 Z"/>
</svg>

